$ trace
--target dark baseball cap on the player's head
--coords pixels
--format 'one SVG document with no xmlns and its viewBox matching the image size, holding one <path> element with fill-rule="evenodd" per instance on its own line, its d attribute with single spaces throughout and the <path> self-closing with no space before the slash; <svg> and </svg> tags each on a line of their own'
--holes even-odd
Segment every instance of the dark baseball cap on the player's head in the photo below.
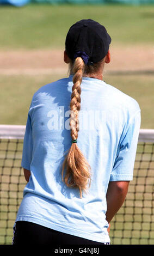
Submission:
<svg viewBox="0 0 154 256">
<path fill-rule="evenodd" d="M 71 60 L 76 52 L 85 52 L 89 62 L 97 63 L 103 59 L 108 50 L 111 38 L 106 28 L 100 23 L 88 19 L 72 25 L 66 35 L 65 50 Z"/>
</svg>

